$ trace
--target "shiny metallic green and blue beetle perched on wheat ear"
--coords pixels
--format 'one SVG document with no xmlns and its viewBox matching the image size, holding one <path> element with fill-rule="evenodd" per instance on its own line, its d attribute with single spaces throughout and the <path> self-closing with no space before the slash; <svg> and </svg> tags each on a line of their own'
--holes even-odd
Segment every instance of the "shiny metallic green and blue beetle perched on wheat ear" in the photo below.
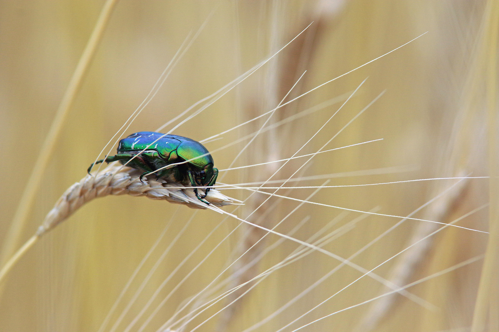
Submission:
<svg viewBox="0 0 499 332">
<path fill-rule="evenodd" d="M 155 172 L 170 164 L 189 160 L 183 164 L 166 167 L 154 174 L 157 179 L 181 182 L 186 186 L 208 187 L 205 195 L 200 196 L 198 188 L 194 188 L 194 192 L 200 201 L 210 204 L 203 198 L 206 197 L 211 189 L 210 187 L 217 181 L 218 169 L 213 167 L 213 158 L 203 144 L 190 138 L 170 134 L 165 135 L 154 131 L 141 131 L 123 138 L 118 145 L 116 155 L 109 156 L 105 160 L 99 160 L 95 164 L 103 161 L 110 163 L 117 160 L 125 164 L 144 149 L 146 149 L 144 152 L 127 164 L 130 167 L 144 171 L 140 176 L 141 181 L 142 177 L 147 173 Z M 196 158 L 197 156 L 200 157 Z M 88 168 L 89 174 L 93 165 L 91 164 Z"/>
</svg>

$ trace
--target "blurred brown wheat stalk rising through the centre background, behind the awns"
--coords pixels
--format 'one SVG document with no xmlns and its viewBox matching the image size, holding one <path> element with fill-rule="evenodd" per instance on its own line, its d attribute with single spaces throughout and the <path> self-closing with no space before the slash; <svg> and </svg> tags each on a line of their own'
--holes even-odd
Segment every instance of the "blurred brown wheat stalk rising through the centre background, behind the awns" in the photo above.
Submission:
<svg viewBox="0 0 499 332">
<path fill-rule="evenodd" d="M 267 109 L 272 109 L 276 106 L 280 106 L 282 103 L 298 96 L 304 92 L 303 86 L 305 85 L 306 78 L 302 77 L 305 74 L 305 68 L 311 66 L 311 60 L 317 49 L 317 46 L 321 43 L 322 29 L 324 25 L 331 22 L 335 17 L 337 12 L 335 10 L 328 10 L 325 5 L 327 1 L 318 1 L 318 5 L 315 8 L 308 9 L 304 17 L 300 18 L 291 31 L 294 33 L 289 33 L 289 31 L 282 31 L 280 26 L 282 25 L 283 17 L 285 16 L 285 10 L 287 8 L 282 8 L 281 5 L 277 5 L 278 2 L 274 2 L 271 7 L 271 28 L 270 35 L 268 36 L 268 49 L 270 52 L 275 52 L 280 48 L 280 44 L 286 40 L 286 38 L 292 38 L 297 35 L 304 27 L 313 22 L 307 31 L 298 40 L 290 45 L 289 55 L 280 56 L 279 58 L 273 60 L 268 66 L 265 72 L 263 72 L 263 77 L 261 80 L 265 82 L 262 84 L 260 89 L 253 93 L 244 105 L 242 105 L 242 114 L 240 117 L 244 120 L 249 120 L 252 117 L 257 116 L 265 112 Z M 301 76 L 300 76 L 301 75 Z M 279 102 L 280 101 L 280 102 Z M 296 106 L 288 106 L 284 109 L 279 109 L 276 114 L 272 114 L 272 117 L 268 118 L 268 125 L 275 124 L 279 120 L 289 116 L 296 111 Z M 264 122 L 267 124 L 267 122 Z M 249 133 L 257 132 L 260 130 L 260 123 L 251 124 L 248 128 Z M 278 137 L 278 138 L 277 138 Z M 285 142 L 292 142 L 297 140 L 299 135 L 291 132 L 290 130 L 276 130 L 271 132 L 265 141 L 261 144 L 252 144 L 249 151 L 249 158 L 247 157 L 245 162 L 250 163 L 252 161 L 257 161 L 263 156 L 263 160 L 279 160 L 283 156 L 290 156 L 295 153 L 291 149 L 291 145 Z M 303 136 L 299 140 L 305 142 L 306 137 Z M 300 173 L 305 173 L 308 167 L 304 168 Z M 265 181 L 267 179 L 275 179 L 273 174 L 278 170 L 275 164 L 268 164 L 259 173 L 259 180 Z M 289 174 L 291 175 L 291 174 Z M 243 182 L 254 181 L 254 176 L 245 178 Z M 254 223 L 270 228 L 272 223 L 279 220 L 279 209 L 278 206 L 271 205 L 270 208 L 260 208 L 260 205 L 267 199 L 267 197 L 262 197 L 261 199 L 256 199 L 251 202 L 250 206 L 246 206 L 245 210 L 247 214 L 251 213 L 251 221 Z M 280 201 L 282 202 L 282 200 Z M 253 210 L 257 209 L 256 213 L 252 213 Z M 237 257 L 243 255 L 234 266 L 233 278 L 229 284 L 229 289 L 237 287 L 238 285 L 245 284 L 249 280 L 252 280 L 259 273 L 259 260 L 262 258 L 261 253 L 267 246 L 267 240 L 265 231 L 261 229 L 254 228 L 248 225 L 243 225 L 241 232 L 241 242 L 238 246 Z M 256 263 L 255 263 L 256 262 Z M 245 287 L 240 288 L 237 292 L 231 294 L 226 300 L 226 303 L 235 302 L 230 308 L 226 310 L 223 317 L 219 323 L 218 331 L 227 331 L 231 320 L 236 315 L 237 311 L 241 308 L 243 301 L 245 299 L 239 299 L 245 292 L 248 292 L 253 283 L 248 284 Z"/>
</svg>

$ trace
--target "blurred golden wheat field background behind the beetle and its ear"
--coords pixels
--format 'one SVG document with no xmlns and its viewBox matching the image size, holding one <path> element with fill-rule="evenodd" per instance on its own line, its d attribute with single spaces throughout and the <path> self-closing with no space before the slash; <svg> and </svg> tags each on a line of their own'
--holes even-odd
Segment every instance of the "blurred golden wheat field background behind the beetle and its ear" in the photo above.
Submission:
<svg viewBox="0 0 499 332">
<path fill-rule="evenodd" d="M 315 187 L 281 188 L 282 197 L 268 201 L 249 189 L 225 189 L 246 205 L 224 210 L 267 229 L 282 221 L 275 232 L 320 251 L 268 234 L 238 259 L 265 231 L 166 201 L 99 198 L 41 237 L 8 273 L 0 331 L 499 331 L 497 0 L 118 0 L 55 145 L 44 151 L 103 5 L 0 2 L 2 264 L 85 176 L 184 40 L 189 48 L 181 48 L 164 85 L 121 137 L 157 130 L 310 23 L 174 133 L 206 139 L 428 32 L 205 144 L 221 170 L 344 147 L 307 163 L 311 156 L 282 168 L 284 161 L 221 171 L 218 178 L 278 187 L 284 182 L 273 180 L 292 177 L 299 179 L 284 187 Z M 217 150 L 268 126 L 253 140 Z M 45 153 L 49 163 L 37 186 L 30 174 Z M 362 186 L 386 182 L 398 183 Z M 359 186 L 316 188 L 324 184 Z M 33 186 L 33 202 L 20 211 L 25 223 L 13 225 L 23 192 Z M 445 225 L 430 221 L 461 228 L 438 231 Z M 286 260 L 296 250 L 307 255 Z M 276 265 L 193 318 L 199 306 Z M 418 281 L 403 294 L 369 301 Z"/>
</svg>

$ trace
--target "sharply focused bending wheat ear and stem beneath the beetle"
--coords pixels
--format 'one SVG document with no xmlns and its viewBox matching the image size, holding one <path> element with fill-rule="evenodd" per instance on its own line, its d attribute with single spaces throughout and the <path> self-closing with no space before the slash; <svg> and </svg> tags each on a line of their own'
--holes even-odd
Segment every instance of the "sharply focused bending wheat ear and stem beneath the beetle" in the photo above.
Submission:
<svg viewBox="0 0 499 332">
<path fill-rule="evenodd" d="M 96 197 L 107 195 L 132 195 L 145 196 L 150 199 L 166 200 L 170 203 L 184 204 L 193 209 L 207 209 L 209 206 L 196 197 L 193 188 L 183 188 L 178 182 L 167 182 L 163 179 L 154 179 L 154 176 L 139 179 L 142 172 L 123 167 L 118 162 L 109 164 L 108 167 L 95 175 L 87 175 L 80 182 L 69 187 L 46 215 L 43 223 L 33 235 L 15 254 L 5 263 L 0 270 L 0 283 L 5 275 L 22 255 L 45 233 L 64 221 L 83 204 Z M 203 190 L 198 189 L 201 193 Z M 227 197 L 216 189 L 208 192 L 205 200 L 210 205 L 222 207 L 237 204 L 234 198 Z M 238 201 L 240 202 L 240 201 Z"/>
</svg>

